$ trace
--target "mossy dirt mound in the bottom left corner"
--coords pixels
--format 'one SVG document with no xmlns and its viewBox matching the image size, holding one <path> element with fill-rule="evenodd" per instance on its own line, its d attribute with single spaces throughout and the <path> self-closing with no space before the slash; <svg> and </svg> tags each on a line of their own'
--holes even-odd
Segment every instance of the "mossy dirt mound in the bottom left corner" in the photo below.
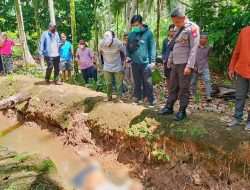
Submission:
<svg viewBox="0 0 250 190">
<path fill-rule="evenodd" d="M 0 168 L 0 189 L 73 190 L 58 177 L 54 163 L 40 154 L 0 147 Z"/>
</svg>

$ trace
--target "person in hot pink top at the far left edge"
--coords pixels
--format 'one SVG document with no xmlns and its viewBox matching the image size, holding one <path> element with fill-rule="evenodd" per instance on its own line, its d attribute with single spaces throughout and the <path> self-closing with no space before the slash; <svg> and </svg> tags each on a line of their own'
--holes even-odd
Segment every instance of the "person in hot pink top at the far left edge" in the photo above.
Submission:
<svg viewBox="0 0 250 190">
<path fill-rule="evenodd" d="M 0 55 L 2 61 L 2 71 L 4 74 L 12 73 L 13 71 L 13 60 L 12 60 L 12 46 L 15 42 L 8 39 L 7 33 L 1 33 L 0 39 Z M 0 67 L 1 69 L 1 67 Z"/>
</svg>

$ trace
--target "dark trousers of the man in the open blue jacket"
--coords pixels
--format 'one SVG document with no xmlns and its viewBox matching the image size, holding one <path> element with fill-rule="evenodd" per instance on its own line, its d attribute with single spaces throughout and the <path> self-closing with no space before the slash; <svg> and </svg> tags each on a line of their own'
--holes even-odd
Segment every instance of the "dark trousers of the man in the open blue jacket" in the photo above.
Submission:
<svg viewBox="0 0 250 190">
<path fill-rule="evenodd" d="M 45 79 L 49 80 L 50 75 L 52 73 L 52 70 L 54 68 L 54 81 L 58 81 L 59 76 L 59 63 L 60 63 L 60 57 L 45 57 L 45 61 L 47 62 L 47 69 L 45 74 Z"/>
</svg>

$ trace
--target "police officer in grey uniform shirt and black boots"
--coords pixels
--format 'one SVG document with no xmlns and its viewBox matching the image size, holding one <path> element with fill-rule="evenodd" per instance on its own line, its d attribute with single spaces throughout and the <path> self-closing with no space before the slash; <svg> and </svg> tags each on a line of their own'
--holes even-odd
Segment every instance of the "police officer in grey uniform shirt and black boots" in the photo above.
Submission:
<svg viewBox="0 0 250 190">
<path fill-rule="evenodd" d="M 186 118 L 186 108 L 189 104 L 189 86 L 192 80 L 196 53 L 200 40 L 199 26 L 189 21 L 182 9 L 175 9 L 171 18 L 176 26 L 176 34 L 172 40 L 172 51 L 168 64 L 172 64 L 170 74 L 170 93 L 165 107 L 158 112 L 160 115 L 173 114 L 174 104 L 180 100 L 179 111 L 174 120 Z"/>
</svg>

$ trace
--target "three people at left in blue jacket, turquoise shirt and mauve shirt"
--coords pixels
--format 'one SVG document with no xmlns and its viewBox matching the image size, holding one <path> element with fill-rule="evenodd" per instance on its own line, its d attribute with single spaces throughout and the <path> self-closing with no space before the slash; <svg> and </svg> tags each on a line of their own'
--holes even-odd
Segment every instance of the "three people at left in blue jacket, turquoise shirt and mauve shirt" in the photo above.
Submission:
<svg viewBox="0 0 250 190">
<path fill-rule="evenodd" d="M 61 84 L 58 81 L 59 73 L 62 72 L 63 81 L 71 78 L 73 69 L 73 52 L 72 45 L 67 41 L 66 34 L 61 34 L 61 38 L 57 32 L 56 23 L 51 22 L 47 31 L 43 32 L 40 42 L 39 54 L 44 57 L 47 62 L 45 74 L 46 84 L 50 84 L 50 76 L 54 68 L 54 84 Z M 76 52 L 76 61 L 83 74 L 85 84 L 88 84 L 90 77 L 97 80 L 97 71 L 94 67 L 94 53 L 87 47 L 84 40 L 79 41 L 79 48 Z"/>
</svg>

